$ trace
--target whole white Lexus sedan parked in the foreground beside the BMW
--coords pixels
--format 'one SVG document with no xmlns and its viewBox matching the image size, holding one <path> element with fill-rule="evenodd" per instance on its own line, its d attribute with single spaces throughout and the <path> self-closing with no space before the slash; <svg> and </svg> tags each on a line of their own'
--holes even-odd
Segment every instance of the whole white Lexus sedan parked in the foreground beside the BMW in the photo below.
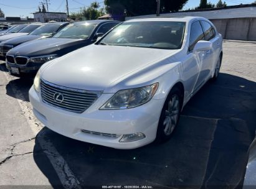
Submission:
<svg viewBox="0 0 256 189">
<path fill-rule="evenodd" d="M 133 19 L 45 63 L 37 119 L 79 141 L 135 149 L 171 137 L 184 105 L 219 75 L 222 36 L 202 17 Z"/>
</svg>

